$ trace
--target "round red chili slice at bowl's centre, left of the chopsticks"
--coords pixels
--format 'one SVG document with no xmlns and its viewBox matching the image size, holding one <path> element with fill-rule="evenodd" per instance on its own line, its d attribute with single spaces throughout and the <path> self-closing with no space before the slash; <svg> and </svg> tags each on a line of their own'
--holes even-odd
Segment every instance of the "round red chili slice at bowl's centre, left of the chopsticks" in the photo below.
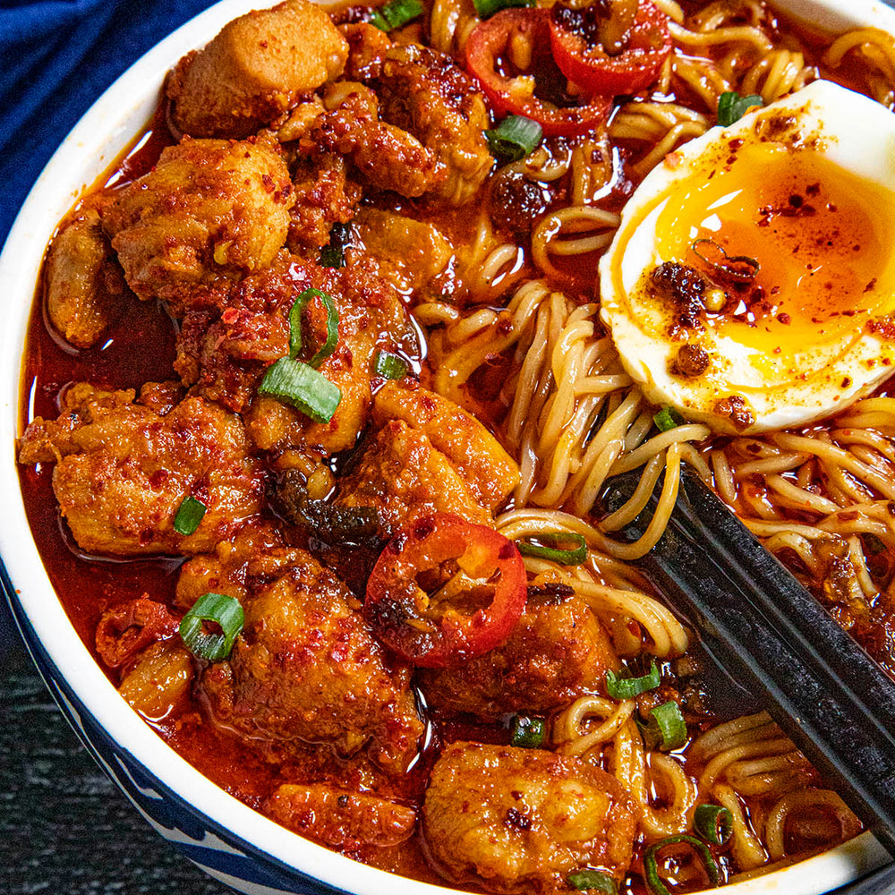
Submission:
<svg viewBox="0 0 895 895">
<path fill-rule="evenodd" d="M 525 597 L 516 544 L 487 525 L 435 513 L 388 541 L 363 611 L 402 659 L 443 668 L 503 644 Z"/>
</svg>

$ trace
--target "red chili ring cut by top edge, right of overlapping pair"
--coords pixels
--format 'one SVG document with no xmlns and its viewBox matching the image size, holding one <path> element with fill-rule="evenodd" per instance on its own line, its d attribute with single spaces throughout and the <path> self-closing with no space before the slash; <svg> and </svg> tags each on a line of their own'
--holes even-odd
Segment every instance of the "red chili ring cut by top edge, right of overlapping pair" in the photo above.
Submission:
<svg viewBox="0 0 895 895">
<path fill-rule="evenodd" d="M 550 10 L 550 46 L 559 70 L 583 90 L 604 96 L 633 94 L 659 77 L 671 52 L 668 16 L 647 0 L 640 0 L 626 47 L 609 55 L 600 44 L 600 4 Z"/>
</svg>

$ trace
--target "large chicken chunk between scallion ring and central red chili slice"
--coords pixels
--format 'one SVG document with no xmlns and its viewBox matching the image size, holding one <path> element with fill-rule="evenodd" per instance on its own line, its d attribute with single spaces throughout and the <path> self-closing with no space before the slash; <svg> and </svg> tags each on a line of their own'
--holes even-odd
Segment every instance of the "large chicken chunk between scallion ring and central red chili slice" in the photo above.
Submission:
<svg viewBox="0 0 895 895">
<path fill-rule="evenodd" d="M 354 602 L 307 553 L 252 593 L 229 661 L 202 678 L 217 722 L 274 754 L 327 743 L 351 755 L 369 743 L 380 766 L 405 770 L 423 730 L 410 670 L 388 660 Z"/>
</svg>

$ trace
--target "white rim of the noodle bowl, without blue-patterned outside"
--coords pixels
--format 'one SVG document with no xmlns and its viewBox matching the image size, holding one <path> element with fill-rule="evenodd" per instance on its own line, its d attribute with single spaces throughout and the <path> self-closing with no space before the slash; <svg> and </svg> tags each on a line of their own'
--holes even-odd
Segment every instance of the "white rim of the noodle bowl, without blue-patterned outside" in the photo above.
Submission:
<svg viewBox="0 0 895 895">
<path fill-rule="evenodd" d="M 273 3 L 273 0 L 270 0 Z M 324 4 L 325 0 L 324 0 Z M 790 17 L 820 23 L 827 30 L 871 24 L 895 33 L 895 12 L 874 0 L 772 0 Z M 20 434 L 20 402 L 25 395 L 22 353 L 35 293 L 37 272 L 47 242 L 61 217 L 86 188 L 95 183 L 133 136 L 148 124 L 165 73 L 189 50 L 206 43 L 235 16 L 267 5 L 264 0 L 221 0 L 186 22 L 134 63 L 98 98 L 74 126 L 47 163 L 21 207 L 0 255 L 0 282 L 7 300 L 0 311 L 0 371 L 4 391 L 0 403 L 0 556 L 13 615 L 20 630 L 33 631 L 26 644 L 45 676 L 57 671 L 72 694 L 124 752 L 145 767 L 170 795 L 192 812 L 209 819 L 239 840 L 246 851 L 272 860 L 287 871 L 353 895 L 448 895 L 456 892 L 362 865 L 303 839 L 218 788 L 187 763 L 133 712 L 81 644 L 55 596 L 30 535 L 15 457 Z M 57 184 L 64 184 L 61 189 Z M 53 666 L 38 661 L 38 647 Z M 261 846 L 259 843 L 263 842 Z M 796 865 L 724 887 L 729 895 L 816 895 L 869 873 L 889 857 L 865 832 L 854 840 Z M 808 884 L 810 883 L 810 884 Z"/>
</svg>

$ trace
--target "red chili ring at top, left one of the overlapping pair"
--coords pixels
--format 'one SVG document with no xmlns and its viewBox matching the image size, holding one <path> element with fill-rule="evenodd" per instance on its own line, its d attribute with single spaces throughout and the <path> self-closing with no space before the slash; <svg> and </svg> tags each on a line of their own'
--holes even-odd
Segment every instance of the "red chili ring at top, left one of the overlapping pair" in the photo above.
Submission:
<svg viewBox="0 0 895 895">
<path fill-rule="evenodd" d="M 532 65 L 519 71 L 511 45 L 524 42 Z M 550 11 L 504 9 L 475 26 L 466 40 L 466 68 L 499 115 L 524 115 L 547 136 L 592 131 L 609 115 L 607 97 L 569 97 L 566 77 L 550 54 Z"/>
</svg>

